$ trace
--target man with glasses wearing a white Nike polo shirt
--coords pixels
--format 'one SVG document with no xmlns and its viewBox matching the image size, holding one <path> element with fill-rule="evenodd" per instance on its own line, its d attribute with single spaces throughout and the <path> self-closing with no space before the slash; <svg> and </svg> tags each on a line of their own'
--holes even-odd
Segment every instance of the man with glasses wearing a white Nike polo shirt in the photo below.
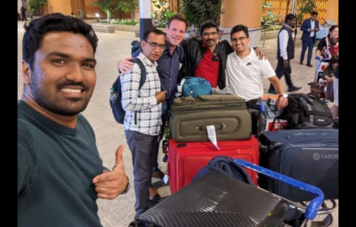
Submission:
<svg viewBox="0 0 356 227">
<path fill-rule="evenodd" d="M 269 79 L 280 94 L 277 100 L 278 109 L 286 107 L 288 95 L 284 93 L 283 85 L 271 63 L 267 59 L 259 60 L 253 48 L 248 46 L 249 43 L 250 37 L 246 26 L 239 24 L 231 29 L 231 44 L 235 52 L 227 57 L 228 87 L 245 99 L 248 108 L 258 109 L 256 103 L 263 94 L 263 79 Z M 255 117 L 252 117 L 253 125 L 257 124 Z"/>
</svg>

